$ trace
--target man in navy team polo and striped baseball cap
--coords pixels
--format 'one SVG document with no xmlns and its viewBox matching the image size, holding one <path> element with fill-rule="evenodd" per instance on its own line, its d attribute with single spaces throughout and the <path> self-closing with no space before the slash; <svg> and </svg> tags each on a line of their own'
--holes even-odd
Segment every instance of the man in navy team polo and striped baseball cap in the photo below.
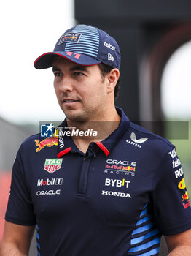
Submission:
<svg viewBox="0 0 191 256">
<path fill-rule="evenodd" d="M 34 66 L 52 67 L 66 120 L 59 138 L 34 135 L 20 146 L 0 254 L 28 255 L 36 227 L 41 256 L 158 255 L 162 234 L 169 255 L 191 255 L 190 201 L 174 146 L 114 106 L 117 42 L 77 25 Z"/>
</svg>

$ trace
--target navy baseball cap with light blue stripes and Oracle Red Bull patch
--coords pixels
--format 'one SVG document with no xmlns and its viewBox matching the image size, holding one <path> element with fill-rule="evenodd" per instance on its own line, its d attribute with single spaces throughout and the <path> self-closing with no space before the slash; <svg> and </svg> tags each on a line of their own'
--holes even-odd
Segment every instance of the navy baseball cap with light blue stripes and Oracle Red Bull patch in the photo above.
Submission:
<svg viewBox="0 0 191 256">
<path fill-rule="evenodd" d="M 36 69 L 52 67 L 55 56 L 62 56 L 74 63 L 90 66 L 104 63 L 120 69 L 120 48 L 115 39 L 93 26 L 77 25 L 68 29 L 52 52 L 44 53 L 34 62 Z"/>
</svg>

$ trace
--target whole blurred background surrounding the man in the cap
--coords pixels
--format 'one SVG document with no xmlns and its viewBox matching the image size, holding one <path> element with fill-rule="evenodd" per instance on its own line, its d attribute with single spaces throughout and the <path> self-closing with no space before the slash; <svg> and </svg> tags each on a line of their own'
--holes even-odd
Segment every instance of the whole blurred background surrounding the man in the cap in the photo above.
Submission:
<svg viewBox="0 0 191 256">
<path fill-rule="evenodd" d="M 191 2 L 41 0 L 1 2 L 0 239 L 12 163 L 39 121 L 63 121 L 51 69 L 33 64 L 77 23 L 104 29 L 122 53 L 116 105 L 176 145 L 191 195 Z M 30 256 L 36 255 L 35 237 Z M 160 256 L 167 255 L 165 242 Z"/>
</svg>

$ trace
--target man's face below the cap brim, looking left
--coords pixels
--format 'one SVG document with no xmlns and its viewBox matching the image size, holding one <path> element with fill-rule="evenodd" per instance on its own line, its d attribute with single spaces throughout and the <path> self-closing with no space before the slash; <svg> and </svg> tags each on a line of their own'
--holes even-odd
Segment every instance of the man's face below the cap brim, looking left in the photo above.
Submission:
<svg viewBox="0 0 191 256">
<path fill-rule="evenodd" d="M 71 121 L 98 121 L 106 108 L 106 84 L 98 65 L 81 66 L 63 57 L 52 65 L 58 103 Z"/>
</svg>

